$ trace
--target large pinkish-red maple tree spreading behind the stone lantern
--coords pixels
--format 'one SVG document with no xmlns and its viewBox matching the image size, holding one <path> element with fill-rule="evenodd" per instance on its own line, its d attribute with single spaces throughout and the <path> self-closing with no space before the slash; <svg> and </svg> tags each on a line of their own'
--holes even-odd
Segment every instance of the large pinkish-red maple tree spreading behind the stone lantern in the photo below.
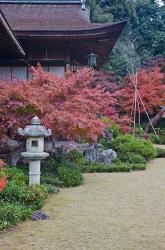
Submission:
<svg viewBox="0 0 165 250">
<path fill-rule="evenodd" d="M 16 132 L 38 115 L 56 138 L 96 140 L 106 126 L 97 114 L 114 106 L 115 98 L 100 86 L 91 87 L 93 71 L 68 72 L 60 78 L 38 66 L 32 74 L 28 81 L 0 82 L 1 134 L 9 127 Z"/>
</svg>

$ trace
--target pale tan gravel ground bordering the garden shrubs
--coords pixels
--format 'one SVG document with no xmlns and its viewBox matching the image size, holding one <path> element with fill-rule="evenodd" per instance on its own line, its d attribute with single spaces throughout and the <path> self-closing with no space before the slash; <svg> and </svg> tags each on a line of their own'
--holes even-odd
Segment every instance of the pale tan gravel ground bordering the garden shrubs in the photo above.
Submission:
<svg viewBox="0 0 165 250">
<path fill-rule="evenodd" d="M 165 250 L 165 159 L 146 171 L 86 174 L 47 200 L 48 221 L 0 234 L 0 250 Z"/>
</svg>

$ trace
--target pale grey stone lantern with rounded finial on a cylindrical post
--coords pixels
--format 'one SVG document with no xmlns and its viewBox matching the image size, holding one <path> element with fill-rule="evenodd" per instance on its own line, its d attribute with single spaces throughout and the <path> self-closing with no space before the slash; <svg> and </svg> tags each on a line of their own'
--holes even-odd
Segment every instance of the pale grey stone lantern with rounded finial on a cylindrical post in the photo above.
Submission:
<svg viewBox="0 0 165 250">
<path fill-rule="evenodd" d="M 26 152 L 21 155 L 29 160 L 29 186 L 40 184 L 41 160 L 49 156 L 44 152 L 44 137 L 50 136 L 52 132 L 41 126 L 40 119 L 35 116 L 31 125 L 18 129 L 18 134 L 27 137 Z"/>
</svg>

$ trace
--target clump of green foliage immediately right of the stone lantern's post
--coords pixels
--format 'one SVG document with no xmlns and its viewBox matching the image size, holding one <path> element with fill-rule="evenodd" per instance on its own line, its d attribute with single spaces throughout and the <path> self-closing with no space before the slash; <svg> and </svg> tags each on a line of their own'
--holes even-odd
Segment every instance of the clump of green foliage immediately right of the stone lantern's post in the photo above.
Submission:
<svg viewBox="0 0 165 250">
<path fill-rule="evenodd" d="M 76 150 L 54 153 L 44 161 L 42 182 L 63 187 L 80 185 L 83 176 L 79 169 L 84 164 L 84 156 Z"/>
</svg>

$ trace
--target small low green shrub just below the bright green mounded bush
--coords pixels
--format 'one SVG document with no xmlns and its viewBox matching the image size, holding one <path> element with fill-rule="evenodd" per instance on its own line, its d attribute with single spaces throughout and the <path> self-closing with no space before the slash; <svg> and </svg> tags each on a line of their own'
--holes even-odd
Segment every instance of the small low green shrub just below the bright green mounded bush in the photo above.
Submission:
<svg viewBox="0 0 165 250">
<path fill-rule="evenodd" d="M 120 153 L 118 154 L 118 158 L 122 162 L 146 164 L 145 158 L 137 153 L 132 153 L 132 152 Z"/>
</svg>

